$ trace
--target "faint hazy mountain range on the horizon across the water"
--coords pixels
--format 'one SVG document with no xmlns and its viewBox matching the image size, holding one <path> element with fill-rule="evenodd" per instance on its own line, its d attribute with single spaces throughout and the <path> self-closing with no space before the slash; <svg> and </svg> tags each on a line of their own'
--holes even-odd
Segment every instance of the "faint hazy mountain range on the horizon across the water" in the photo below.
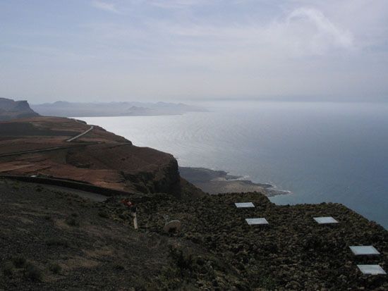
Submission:
<svg viewBox="0 0 388 291">
<path fill-rule="evenodd" d="M 44 116 L 92 117 L 92 116 L 162 116 L 187 112 L 207 111 L 200 106 L 166 102 L 109 102 L 109 103 L 54 103 L 32 104 L 32 109 Z"/>
</svg>

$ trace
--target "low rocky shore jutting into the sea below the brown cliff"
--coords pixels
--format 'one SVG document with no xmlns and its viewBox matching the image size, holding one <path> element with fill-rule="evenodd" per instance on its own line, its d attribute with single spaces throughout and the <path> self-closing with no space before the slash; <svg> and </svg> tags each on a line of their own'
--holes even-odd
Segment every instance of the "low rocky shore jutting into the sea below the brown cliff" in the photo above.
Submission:
<svg viewBox="0 0 388 291">
<path fill-rule="evenodd" d="M 277 190 L 271 184 L 252 182 L 240 175 L 229 175 L 225 171 L 214 171 L 209 168 L 179 167 L 179 173 L 182 178 L 209 194 L 261 192 L 267 197 L 273 197 L 291 193 Z"/>
</svg>

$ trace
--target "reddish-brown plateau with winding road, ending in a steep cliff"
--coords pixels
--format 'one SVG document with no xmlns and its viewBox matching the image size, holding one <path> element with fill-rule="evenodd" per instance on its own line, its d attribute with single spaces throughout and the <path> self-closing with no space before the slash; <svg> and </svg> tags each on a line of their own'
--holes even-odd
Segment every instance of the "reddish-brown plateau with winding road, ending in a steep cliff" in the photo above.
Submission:
<svg viewBox="0 0 388 291">
<path fill-rule="evenodd" d="M 187 189 L 195 196 L 203 194 L 181 179 L 171 154 L 135 147 L 96 125 L 90 128 L 80 120 L 55 117 L 0 123 L 0 174 L 62 178 L 145 194 L 180 197 Z"/>
</svg>

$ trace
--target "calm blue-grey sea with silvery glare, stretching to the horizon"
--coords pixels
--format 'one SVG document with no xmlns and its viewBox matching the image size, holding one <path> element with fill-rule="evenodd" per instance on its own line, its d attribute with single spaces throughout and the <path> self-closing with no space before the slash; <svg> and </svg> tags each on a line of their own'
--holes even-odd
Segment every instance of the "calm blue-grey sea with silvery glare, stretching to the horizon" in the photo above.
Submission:
<svg viewBox="0 0 388 291">
<path fill-rule="evenodd" d="M 388 104 L 215 102 L 181 116 L 81 118 L 180 166 L 224 170 L 291 194 L 339 202 L 388 228 Z"/>
</svg>

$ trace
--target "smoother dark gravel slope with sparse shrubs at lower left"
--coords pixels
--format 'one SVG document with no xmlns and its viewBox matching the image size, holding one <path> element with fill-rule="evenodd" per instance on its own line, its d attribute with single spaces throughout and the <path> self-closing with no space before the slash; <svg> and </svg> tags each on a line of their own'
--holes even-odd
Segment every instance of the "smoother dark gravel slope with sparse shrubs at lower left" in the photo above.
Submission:
<svg viewBox="0 0 388 291">
<path fill-rule="evenodd" d="M 0 290 L 139 290 L 166 265 L 169 237 L 135 232 L 101 203 L 10 180 L 0 192 Z"/>
</svg>

